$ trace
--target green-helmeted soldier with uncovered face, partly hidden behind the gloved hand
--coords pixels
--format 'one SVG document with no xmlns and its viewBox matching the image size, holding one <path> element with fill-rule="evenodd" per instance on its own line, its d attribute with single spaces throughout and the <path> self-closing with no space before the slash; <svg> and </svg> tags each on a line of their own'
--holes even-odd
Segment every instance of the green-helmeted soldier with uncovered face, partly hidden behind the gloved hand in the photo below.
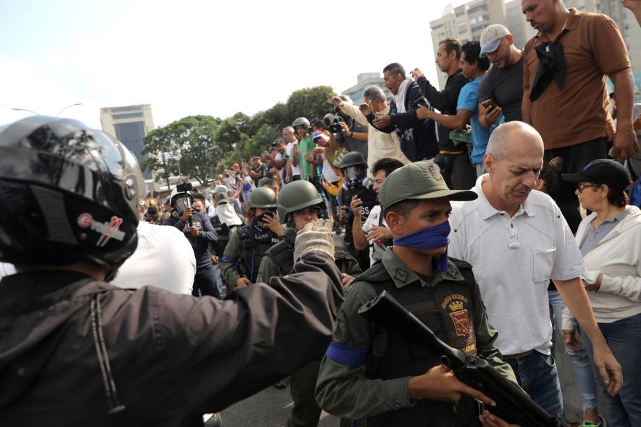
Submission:
<svg viewBox="0 0 641 427">
<path fill-rule="evenodd" d="M 293 240 L 296 232 L 305 224 L 318 219 L 318 211 L 325 203 L 316 187 L 308 181 L 294 181 L 283 187 L 278 194 L 278 215 L 288 225 L 285 237 L 271 247 L 261 262 L 258 280 L 269 283 L 272 277 L 289 274 L 294 263 Z M 334 242 L 336 239 L 334 238 Z M 351 276 L 360 274 L 358 262 L 348 254 L 342 245 L 334 247 L 334 259 L 343 274 L 343 284 L 350 282 Z M 314 399 L 318 366 L 321 360 L 311 362 L 291 375 L 291 397 L 294 403 L 287 420 L 287 427 L 314 427 L 318 425 L 321 407 Z"/>
</svg>

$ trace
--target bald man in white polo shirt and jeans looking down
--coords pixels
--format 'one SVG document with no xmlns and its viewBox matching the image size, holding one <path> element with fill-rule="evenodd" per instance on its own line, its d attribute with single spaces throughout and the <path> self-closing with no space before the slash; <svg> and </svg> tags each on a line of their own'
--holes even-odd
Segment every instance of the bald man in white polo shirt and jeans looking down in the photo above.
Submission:
<svg viewBox="0 0 641 427">
<path fill-rule="evenodd" d="M 534 127 L 513 121 L 497 127 L 484 155 L 479 198 L 452 203 L 449 256 L 472 264 L 495 346 L 519 385 L 550 415 L 563 414 L 551 355 L 548 284 L 595 343 L 594 363 L 611 394 L 621 389 L 621 366 L 599 331 L 580 281 L 585 270 L 576 241 L 557 204 L 534 189 L 543 166 L 543 140 Z"/>
</svg>

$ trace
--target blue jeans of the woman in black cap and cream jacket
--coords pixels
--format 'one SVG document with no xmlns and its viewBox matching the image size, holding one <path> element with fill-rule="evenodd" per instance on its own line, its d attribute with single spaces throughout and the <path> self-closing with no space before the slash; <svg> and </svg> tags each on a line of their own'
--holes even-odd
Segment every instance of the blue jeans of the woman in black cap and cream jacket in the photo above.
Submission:
<svg viewBox="0 0 641 427">
<path fill-rule="evenodd" d="M 621 392 L 617 396 L 610 396 L 605 392 L 596 366 L 592 364 L 598 385 L 608 399 L 610 426 L 641 426 L 641 314 L 613 323 L 599 323 L 598 327 L 623 371 Z M 590 362 L 594 362 L 592 343 L 587 338 L 583 342 Z"/>
</svg>

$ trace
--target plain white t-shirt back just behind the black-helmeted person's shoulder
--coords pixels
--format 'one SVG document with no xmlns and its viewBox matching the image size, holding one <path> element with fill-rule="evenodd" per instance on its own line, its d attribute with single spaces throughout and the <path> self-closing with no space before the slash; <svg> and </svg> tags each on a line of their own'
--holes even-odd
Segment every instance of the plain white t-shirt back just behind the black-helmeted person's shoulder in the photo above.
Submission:
<svg viewBox="0 0 641 427">
<path fill-rule="evenodd" d="M 136 289 L 156 286 L 192 295 L 195 274 L 194 249 L 178 228 L 139 222 L 138 247 L 111 284 Z"/>
</svg>

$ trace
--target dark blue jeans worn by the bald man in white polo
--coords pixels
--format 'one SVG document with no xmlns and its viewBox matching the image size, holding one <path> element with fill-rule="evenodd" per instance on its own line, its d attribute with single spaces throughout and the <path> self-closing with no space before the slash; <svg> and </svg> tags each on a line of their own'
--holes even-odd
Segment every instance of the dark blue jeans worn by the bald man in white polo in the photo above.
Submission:
<svg viewBox="0 0 641 427">
<path fill-rule="evenodd" d="M 563 396 L 554 357 L 538 351 L 518 359 L 505 359 L 518 385 L 548 414 L 563 416 Z"/>
</svg>

